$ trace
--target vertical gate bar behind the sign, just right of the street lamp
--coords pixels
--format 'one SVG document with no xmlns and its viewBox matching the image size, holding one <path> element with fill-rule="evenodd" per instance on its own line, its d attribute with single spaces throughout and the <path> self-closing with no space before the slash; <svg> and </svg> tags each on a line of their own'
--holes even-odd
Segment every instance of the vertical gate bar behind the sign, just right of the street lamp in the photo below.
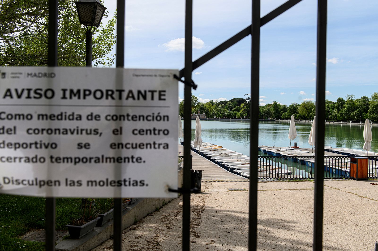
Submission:
<svg viewBox="0 0 378 251">
<path fill-rule="evenodd" d="M 125 4 L 126 0 L 117 0 L 117 42 L 116 67 L 124 67 L 125 57 Z M 113 250 L 122 249 L 122 199 L 114 198 Z"/>
</svg>

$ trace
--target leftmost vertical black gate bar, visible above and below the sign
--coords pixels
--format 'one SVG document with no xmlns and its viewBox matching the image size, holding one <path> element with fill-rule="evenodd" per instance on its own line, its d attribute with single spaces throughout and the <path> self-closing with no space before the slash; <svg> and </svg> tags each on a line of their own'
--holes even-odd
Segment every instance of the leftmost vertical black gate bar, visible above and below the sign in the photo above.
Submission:
<svg viewBox="0 0 378 251">
<path fill-rule="evenodd" d="M 49 0 L 48 10 L 48 66 L 58 65 L 58 0 Z M 49 251 L 55 250 L 55 198 L 46 197 L 46 242 L 45 248 Z"/>
</svg>

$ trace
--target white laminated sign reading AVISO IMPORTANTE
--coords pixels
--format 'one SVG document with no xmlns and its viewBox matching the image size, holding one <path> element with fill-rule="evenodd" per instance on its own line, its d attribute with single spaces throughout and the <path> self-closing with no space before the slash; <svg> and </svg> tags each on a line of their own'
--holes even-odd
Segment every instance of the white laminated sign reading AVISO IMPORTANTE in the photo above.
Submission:
<svg viewBox="0 0 378 251">
<path fill-rule="evenodd" d="M 0 193 L 175 197 L 174 74 L 0 67 Z"/>
</svg>

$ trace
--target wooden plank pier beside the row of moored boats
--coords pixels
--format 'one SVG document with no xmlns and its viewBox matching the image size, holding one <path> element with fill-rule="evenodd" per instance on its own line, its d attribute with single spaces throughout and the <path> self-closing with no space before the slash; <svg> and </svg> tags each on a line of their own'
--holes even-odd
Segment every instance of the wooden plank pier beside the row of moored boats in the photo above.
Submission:
<svg viewBox="0 0 378 251">
<path fill-rule="evenodd" d="M 178 151 L 181 154 L 184 152 L 184 146 L 179 144 Z M 191 150 L 192 155 L 192 169 L 203 170 L 202 181 L 249 181 L 249 179 L 243 178 L 237 174 L 229 173 L 222 167 L 215 165 L 208 159 L 203 158 Z"/>
</svg>

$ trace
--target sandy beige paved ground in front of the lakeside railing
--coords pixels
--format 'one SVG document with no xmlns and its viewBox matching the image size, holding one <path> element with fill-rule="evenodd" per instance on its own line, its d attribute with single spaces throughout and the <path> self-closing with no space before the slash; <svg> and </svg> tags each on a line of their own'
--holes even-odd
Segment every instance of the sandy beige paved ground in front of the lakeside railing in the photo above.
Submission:
<svg viewBox="0 0 378 251">
<path fill-rule="evenodd" d="M 324 249 L 374 250 L 377 181 L 325 181 Z M 313 182 L 261 182 L 258 250 L 312 250 Z M 191 198 L 191 250 L 247 251 L 249 182 L 203 182 Z M 245 188 L 246 191 L 228 191 Z M 123 232 L 123 250 L 181 250 L 181 197 Z M 113 250 L 113 240 L 93 251 Z"/>
</svg>

